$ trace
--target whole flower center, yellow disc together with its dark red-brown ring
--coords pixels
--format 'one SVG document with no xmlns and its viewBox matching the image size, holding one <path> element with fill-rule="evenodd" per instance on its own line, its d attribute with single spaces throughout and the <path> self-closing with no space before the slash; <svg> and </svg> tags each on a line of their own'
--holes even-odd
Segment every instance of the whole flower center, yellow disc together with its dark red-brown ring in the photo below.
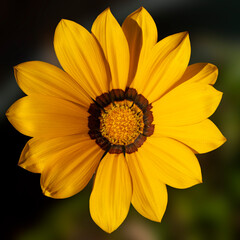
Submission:
<svg viewBox="0 0 240 240">
<path fill-rule="evenodd" d="M 151 109 L 136 89 L 112 89 L 90 104 L 88 134 L 105 153 L 134 153 L 154 132 Z"/>
</svg>

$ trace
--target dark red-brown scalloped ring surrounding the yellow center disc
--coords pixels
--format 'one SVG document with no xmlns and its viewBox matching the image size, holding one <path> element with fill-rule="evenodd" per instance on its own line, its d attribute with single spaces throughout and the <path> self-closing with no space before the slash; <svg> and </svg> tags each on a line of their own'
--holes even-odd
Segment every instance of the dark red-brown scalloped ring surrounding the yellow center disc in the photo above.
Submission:
<svg viewBox="0 0 240 240">
<path fill-rule="evenodd" d="M 115 145 L 109 142 L 109 140 L 102 136 L 100 131 L 100 120 L 101 110 L 104 110 L 110 103 L 123 101 L 132 101 L 136 104 L 143 112 L 144 129 L 143 134 L 139 134 L 133 143 L 128 145 Z M 152 105 L 149 104 L 148 100 L 142 95 L 138 94 L 136 89 L 127 88 L 126 91 L 122 89 L 113 89 L 109 93 L 103 93 L 96 98 L 94 103 L 90 104 L 88 112 L 88 128 L 89 136 L 91 139 L 96 139 L 96 143 L 105 151 L 112 154 L 120 153 L 133 153 L 138 151 L 138 148 L 146 141 L 147 137 L 151 136 L 154 132 Z"/>
</svg>

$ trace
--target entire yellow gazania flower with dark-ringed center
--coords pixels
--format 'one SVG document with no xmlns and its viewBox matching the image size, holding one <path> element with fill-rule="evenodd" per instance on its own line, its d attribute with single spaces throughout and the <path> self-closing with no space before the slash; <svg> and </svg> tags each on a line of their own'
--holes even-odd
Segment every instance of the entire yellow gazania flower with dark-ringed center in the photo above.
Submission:
<svg viewBox="0 0 240 240">
<path fill-rule="evenodd" d="M 196 153 L 225 138 L 208 119 L 222 97 L 213 85 L 217 68 L 188 66 L 187 32 L 157 42 L 157 28 L 140 8 L 120 26 L 107 9 L 92 33 L 62 20 L 54 47 L 61 70 L 33 61 L 15 67 L 27 94 L 7 112 L 12 125 L 32 137 L 19 165 L 41 173 L 46 196 L 67 198 L 95 175 L 93 220 L 112 232 L 130 204 L 160 222 L 166 185 L 202 182 Z"/>
</svg>

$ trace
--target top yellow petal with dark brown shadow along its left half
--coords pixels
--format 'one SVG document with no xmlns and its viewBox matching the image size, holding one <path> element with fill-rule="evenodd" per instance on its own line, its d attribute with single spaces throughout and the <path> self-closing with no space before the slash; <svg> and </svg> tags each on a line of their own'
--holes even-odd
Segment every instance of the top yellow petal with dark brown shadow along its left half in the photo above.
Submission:
<svg viewBox="0 0 240 240">
<path fill-rule="evenodd" d="M 137 68 L 148 57 L 150 50 L 157 42 L 157 27 L 147 10 L 143 7 L 130 14 L 122 25 L 130 50 L 129 85 Z"/>
</svg>

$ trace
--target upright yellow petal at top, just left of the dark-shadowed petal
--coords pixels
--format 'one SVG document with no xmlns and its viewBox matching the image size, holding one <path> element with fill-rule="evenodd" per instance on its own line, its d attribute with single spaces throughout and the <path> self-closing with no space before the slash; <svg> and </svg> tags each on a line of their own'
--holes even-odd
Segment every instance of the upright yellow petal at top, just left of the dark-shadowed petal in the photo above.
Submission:
<svg viewBox="0 0 240 240">
<path fill-rule="evenodd" d="M 109 8 L 96 18 L 92 33 L 101 44 L 109 63 L 111 87 L 125 90 L 128 81 L 129 48 L 122 28 Z"/>
</svg>

